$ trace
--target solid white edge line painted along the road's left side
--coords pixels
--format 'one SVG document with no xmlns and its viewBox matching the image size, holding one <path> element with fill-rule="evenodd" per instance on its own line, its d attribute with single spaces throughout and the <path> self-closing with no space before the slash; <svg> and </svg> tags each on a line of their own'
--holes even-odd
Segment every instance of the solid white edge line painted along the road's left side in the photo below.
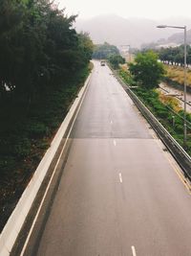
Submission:
<svg viewBox="0 0 191 256">
<path fill-rule="evenodd" d="M 90 82 L 90 81 L 89 81 L 89 82 Z M 87 92 L 87 90 L 86 90 L 86 92 Z M 80 108 L 81 108 L 81 105 L 83 104 L 84 98 L 85 98 L 85 96 L 86 96 L 86 92 L 85 92 L 85 94 L 83 95 L 82 101 L 81 101 L 81 103 L 80 103 L 80 105 L 79 105 L 79 108 L 78 108 L 76 114 L 75 114 L 73 124 L 72 124 L 72 126 L 71 126 L 71 128 L 70 128 L 70 130 L 69 130 L 69 133 L 68 133 L 68 136 L 67 136 L 66 141 L 65 141 L 65 143 L 64 143 L 64 146 L 63 146 L 63 148 L 62 148 L 62 151 L 60 152 L 59 158 L 57 159 L 56 165 L 55 165 L 55 167 L 54 167 L 54 169 L 53 169 L 53 174 L 52 174 L 52 176 L 51 176 L 51 179 L 50 179 L 49 184 L 48 184 L 48 186 L 47 186 L 47 189 L 46 189 L 46 191 L 45 191 L 44 197 L 42 198 L 41 203 L 40 203 L 40 205 L 39 205 L 39 207 L 38 207 L 38 211 L 37 211 L 37 213 L 36 213 L 36 215 L 35 215 L 35 218 L 34 218 L 34 220 L 32 221 L 32 227 L 31 227 L 31 229 L 30 229 L 30 232 L 28 233 L 27 239 L 26 239 L 26 241 L 25 241 L 25 244 L 24 244 L 24 246 L 23 246 L 23 249 L 22 249 L 22 251 L 21 251 L 20 256 L 23 256 L 23 255 L 24 255 L 25 250 L 26 250 L 26 248 L 27 248 L 27 246 L 28 246 L 28 243 L 29 243 L 30 238 L 31 238 L 31 235 L 32 235 L 33 227 L 34 227 L 34 225 L 35 225 L 35 223 L 36 223 L 36 221 L 37 221 L 37 219 L 38 219 L 39 213 L 40 213 L 40 211 L 41 211 L 41 209 L 42 209 L 42 205 L 43 205 L 44 200 L 45 200 L 45 198 L 46 198 L 46 196 L 47 196 L 47 194 L 48 194 L 49 188 L 50 188 L 51 183 L 52 183 L 52 180 L 53 180 L 53 176 L 54 176 L 54 174 L 55 174 L 55 171 L 56 171 L 56 168 L 57 168 L 57 166 L 58 166 L 58 163 L 59 163 L 59 161 L 60 161 L 60 159 L 61 159 L 62 153 L 63 153 L 63 151 L 65 150 L 65 147 L 66 147 L 66 144 L 67 144 L 67 142 L 68 142 L 69 136 L 70 136 L 71 131 L 72 131 L 73 127 L 74 127 L 75 119 L 76 119 L 76 117 L 77 117 L 77 114 L 78 114 L 78 112 L 79 112 L 79 110 L 80 110 Z"/>
</svg>

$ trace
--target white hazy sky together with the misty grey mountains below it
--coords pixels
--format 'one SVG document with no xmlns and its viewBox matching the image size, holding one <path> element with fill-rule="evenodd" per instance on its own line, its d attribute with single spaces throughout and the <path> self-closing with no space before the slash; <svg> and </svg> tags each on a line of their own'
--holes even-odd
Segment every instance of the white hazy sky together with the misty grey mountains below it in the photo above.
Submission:
<svg viewBox="0 0 191 256">
<path fill-rule="evenodd" d="M 151 0 L 55 0 L 55 3 L 60 9 L 65 9 L 66 15 L 77 15 L 74 28 L 89 33 L 94 43 L 127 43 L 139 48 L 141 44 L 166 40 L 181 33 L 176 29 L 159 30 L 157 26 L 160 24 L 191 29 L 191 4 L 188 0 L 181 3 L 160 0 L 159 4 Z"/>
</svg>

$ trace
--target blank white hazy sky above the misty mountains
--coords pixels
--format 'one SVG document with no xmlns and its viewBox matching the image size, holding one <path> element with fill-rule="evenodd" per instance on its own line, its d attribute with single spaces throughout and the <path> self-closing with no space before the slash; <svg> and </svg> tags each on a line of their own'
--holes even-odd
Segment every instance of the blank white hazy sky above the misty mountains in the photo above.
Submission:
<svg viewBox="0 0 191 256">
<path fill-rule="evenodd" d="M 191 0 L 55 0 L 68 14 L 80 18 L 116 13 L 123 17 L 136 16 L 160 19 L 171 16 L 191 17 Z"/>
</svg>

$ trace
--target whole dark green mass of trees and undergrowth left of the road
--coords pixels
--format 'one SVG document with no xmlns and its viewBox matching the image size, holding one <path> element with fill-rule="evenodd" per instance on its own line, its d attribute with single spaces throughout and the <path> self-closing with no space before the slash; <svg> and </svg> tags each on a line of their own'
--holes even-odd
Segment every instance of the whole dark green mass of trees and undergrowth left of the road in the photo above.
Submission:
<svg viewBox="0 0 191 256">
<path fill-rule="evenodd" d="M 0 1 L 0 230 L 90 72 L 75 17 L 47 0 Z"/>
</svg>

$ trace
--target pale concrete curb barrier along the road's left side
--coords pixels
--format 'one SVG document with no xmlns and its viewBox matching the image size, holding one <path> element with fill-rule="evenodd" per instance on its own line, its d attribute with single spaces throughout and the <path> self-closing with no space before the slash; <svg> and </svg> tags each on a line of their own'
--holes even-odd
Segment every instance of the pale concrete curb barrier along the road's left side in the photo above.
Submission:
<svg viewBox="0 0 191 256">
<path fill-rule="evenodd" d="M 7 221 L 3 231 L 0 234 L 0 256 L 9 256 L 11 249 L 18 237 L 18 234 L 30 212 L 34 198 L 36 197 L 38 190 L 47 174 L 49 167 L 53 161 L 53 156 L 56 153 L 61 140 L 63 137 L 67 137 L 70 131 L 70 127 L 73 125 L 74 117 L 79 109 L 85 93 L 88 88 L 89 81 L 91 79 L 92 73 L 89 75 L 88 79 L 85 81 L 83 87 L 79 91 L 74 104 L 71 106 L 68 114 L 66 115 L 64 121 L 62 122 L 60 128 L 53 138 L 51 147 L 46 151 L 44 157 L 40 161 L 34 175 L 27 188 L 23 192 L 21 198 L 19 199 L 16 207 L 11 213 L 11 217 Z"/>
</svg>

